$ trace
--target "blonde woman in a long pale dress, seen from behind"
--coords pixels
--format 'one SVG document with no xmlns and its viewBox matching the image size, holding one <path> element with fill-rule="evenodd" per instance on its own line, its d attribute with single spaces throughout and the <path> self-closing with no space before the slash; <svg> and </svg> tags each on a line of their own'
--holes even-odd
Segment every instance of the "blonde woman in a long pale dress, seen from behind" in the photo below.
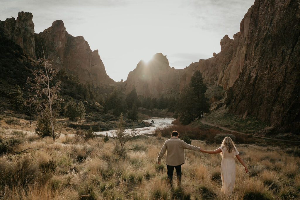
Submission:
<svg viewBox="0 0 300 200">
<path fill-rule="evenodd" d="M 239 156 L 238 150 L 235 148 L 234 143 L 230 137 L 226 137 L 223 139 L 222 145 L 220 148 L 214 151 L 205 151 L 200 150 L 203 153 L 207 154 L 218 154 L 222 156 L 221 163 L 221 179 L 222 179 L 222 189 L 221 191 L 224 193 L 232 193 L 235 185 L 235 160 L 236 157 L 238 161 L 245 167 L 246 173 L 248 169 L 244 163 L 244 161 Z"/>
</svg>

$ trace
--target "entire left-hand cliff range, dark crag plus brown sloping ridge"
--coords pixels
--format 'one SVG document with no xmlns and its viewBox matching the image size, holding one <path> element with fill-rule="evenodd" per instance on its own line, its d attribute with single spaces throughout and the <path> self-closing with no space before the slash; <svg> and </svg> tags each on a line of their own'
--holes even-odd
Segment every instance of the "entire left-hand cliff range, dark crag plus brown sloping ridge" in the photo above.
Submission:
<svg viewBox="0 0 300 200">
<path fill-rule="evenodd" d="M 35 34 L 32 17 L 32 13 L 19 12 L 16 20 L 12 17 L 0 21 L 1 36 L 19 45 L 24 54 L 32 59 L 42 57 L 44 48 L 46 58 L 55 61 L 58 70 L 66 68 L 77 75 L 80 82 L 94 85 L 115 83 L 107 75 L 98 50 L 92 52 L 82 36 L 68 34 L 62 20 Z"/>
</svg>

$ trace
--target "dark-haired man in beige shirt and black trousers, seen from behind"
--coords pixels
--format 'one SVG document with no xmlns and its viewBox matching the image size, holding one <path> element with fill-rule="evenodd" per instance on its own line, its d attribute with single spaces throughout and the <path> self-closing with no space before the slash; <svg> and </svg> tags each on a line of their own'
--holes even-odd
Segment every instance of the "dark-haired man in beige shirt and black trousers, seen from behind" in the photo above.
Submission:
<svg viewBox="0 0 300 200">
<path fill-rule="evenodd" d="M 178 139 L 179 133 L 173 131 L 171 134 L 172 138 L 165 141 L 161 152 L 159 152 L 157 163 L 161 164 L 161 158 L 167 151 L 166 163 L 167 163 L 167 175 L 168 184 L 172 187 L 173 185 L 173 172 L 174 167 L 176 169 L 178 186 L 181 185 L 181 165 L 184 164 L 184 149 L 190 149 L 193 151 L 200 151 L 200 147 L 189 145 L 183 140 Z"/>
</svg>

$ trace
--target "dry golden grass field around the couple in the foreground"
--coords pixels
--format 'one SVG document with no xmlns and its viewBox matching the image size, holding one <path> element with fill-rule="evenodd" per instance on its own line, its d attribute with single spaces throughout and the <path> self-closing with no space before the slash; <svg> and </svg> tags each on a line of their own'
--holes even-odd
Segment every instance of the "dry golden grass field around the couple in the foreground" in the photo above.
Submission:
<svg viewBox="0 0 300 200">
<path fill-rule="evenodd" d="M 249 173 L 237 162 L 235 190 L 220 192 L 219 154 L 186 150 L 182 187 L 166 184 L 166 164 L 156 164 L 164 140 L 140 136 L 126 143 L 125 159 L 113 154 L 114 139 L 76 138 L 76 130 L 61 128 L 61 136 L 38 137 L 33 127 L 2 118 L 0 121 L 1 199 L 299 199 L 298 147 L 287 145 L 236 145 Z M 208 133 L 209 134 L 209 131 Z M 214 133 L 215 134 L 215 133 Z M 214 150 L 220 144 L 192 140 L 192 145 Z M 262 144 L 261 142 L 260 144 Z M 14 155 L 16 152 L 27 150 Z M 43 151 L 41 151 L 43 150 Z"/>
</svg>

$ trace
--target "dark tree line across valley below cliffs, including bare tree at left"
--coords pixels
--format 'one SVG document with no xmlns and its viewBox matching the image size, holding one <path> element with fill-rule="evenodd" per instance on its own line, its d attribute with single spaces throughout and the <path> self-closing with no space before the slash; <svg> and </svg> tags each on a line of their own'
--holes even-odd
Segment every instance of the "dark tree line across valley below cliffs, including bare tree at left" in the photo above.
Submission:
<svg viewBox="0 0 300 200">
<path fill-rule="evenodd" d="M 115 117 L 123 113 L 135 121 L 138 119 L 138 108 L 143 107 L 167 109 L 168 112 L 175 112 L 182 124 L 189 124 L 209 111 L 205 97 L 207 87 L 199 71 L 193 74 L 189 85 L 179 96 L 152 98 L 138 97 L 135 88 L 126 95 L 118 87 L 80 83 L 78 76 L 68 75 L 65 69 L 57 72 L 51 67 L 51 61 L 46 59 L 40 59 L 39 64 L 40 68 L 27 79 L 24 87 L 28 89 L 26 95 L 19 85 L 15 85 L 10 92 L 10 103 L 14 110 L 30 116 L 30 124 L 38 118 L 36 132 L 41 135 L 51 133 L 53 139 L 58 115 L 76 120 L 84 119 L 91 113 Z"/>
</svg>

